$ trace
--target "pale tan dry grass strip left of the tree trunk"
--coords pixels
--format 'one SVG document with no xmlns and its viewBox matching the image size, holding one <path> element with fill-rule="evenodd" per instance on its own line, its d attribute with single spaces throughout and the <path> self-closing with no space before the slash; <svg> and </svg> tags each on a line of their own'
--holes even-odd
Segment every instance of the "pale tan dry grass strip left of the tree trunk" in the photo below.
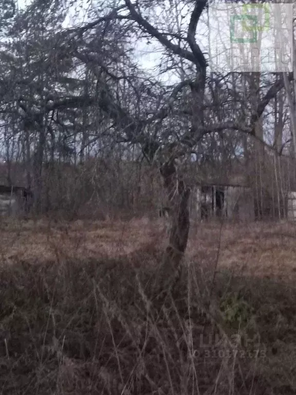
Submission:
<svg viewBox="0 0 296 395">
<path fill-rule="evenodd" d="M 102 255 L 118 257 L 133 253 L 154 238 L 158 239 L 160 228 L 146 219 L 113 223 L 2 222 L 0 256 L 3 263 L 15 259 L 40 262 L 98 258 Z"/>
</svg>

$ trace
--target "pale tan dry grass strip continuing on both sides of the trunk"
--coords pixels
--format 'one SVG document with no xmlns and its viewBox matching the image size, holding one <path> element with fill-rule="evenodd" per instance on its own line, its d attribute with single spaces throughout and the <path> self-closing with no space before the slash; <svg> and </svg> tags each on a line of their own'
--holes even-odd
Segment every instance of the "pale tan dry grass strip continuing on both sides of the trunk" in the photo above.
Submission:
<svg viewBox="0 0 296 395">
<path fill-rule="evenodd" d="M 168 242 L 161 221 L 48 220 L 2 222 L 0 256 L 15 260 L 63 260 L 133 255 Z M 186 257 L 209 270 L 296 279 L 296 224 L 198 224 L 191 227 Z"/>
</svg>

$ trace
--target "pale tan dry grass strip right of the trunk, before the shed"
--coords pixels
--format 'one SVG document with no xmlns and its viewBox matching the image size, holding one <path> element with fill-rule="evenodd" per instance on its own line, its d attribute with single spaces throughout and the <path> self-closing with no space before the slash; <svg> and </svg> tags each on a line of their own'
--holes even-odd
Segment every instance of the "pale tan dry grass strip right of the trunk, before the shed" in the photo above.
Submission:
<svg viewBox="0 0 296 395">
<path fill-rule="evenodd" d="M 197 260 L 205 256 L 217 270 L 290 281 L 296 279 L 296 224 L 200 226 L 192 230 L 188 254 Z"/>
</svg>

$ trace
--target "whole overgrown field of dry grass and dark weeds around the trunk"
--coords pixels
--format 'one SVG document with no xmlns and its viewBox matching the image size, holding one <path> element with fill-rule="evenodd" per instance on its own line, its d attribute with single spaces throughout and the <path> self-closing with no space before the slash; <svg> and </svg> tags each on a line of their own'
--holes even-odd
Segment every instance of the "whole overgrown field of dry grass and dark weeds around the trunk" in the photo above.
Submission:
<svg viewBox="0 0 296 395">
<path fill-rule="evenodd" d="M 0 232 L 1 393 L 296 392 L 296 224 L 193 224 L 165 299 L 161 222 Z"/>
</svg>

